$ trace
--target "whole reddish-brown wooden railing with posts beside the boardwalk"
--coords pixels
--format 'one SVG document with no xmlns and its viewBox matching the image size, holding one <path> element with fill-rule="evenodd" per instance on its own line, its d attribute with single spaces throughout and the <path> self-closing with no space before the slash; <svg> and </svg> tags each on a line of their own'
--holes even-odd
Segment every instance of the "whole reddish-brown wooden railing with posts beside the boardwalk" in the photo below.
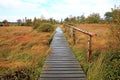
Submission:
<svg viewBox="0 0 120 80">
<path fill-rule="evenodd" d="M 68 24 L 64 24 L 65 27 L 69 27 L 70 31 L 71 31 L 71 36 L 73 37 L 73 43 L 74 45 L 76 44 L 76 35 L 75 35 L 75 30 L 82 32 L 83 34 L 88 35 L 88 62 L 91 62 L 91 58 L 92 58 L 92 37 L 96 36 L 95 33 L 91 33 L 85 30 L 82 30 L 80 28 L 68 25 Z"/>
</svg>

